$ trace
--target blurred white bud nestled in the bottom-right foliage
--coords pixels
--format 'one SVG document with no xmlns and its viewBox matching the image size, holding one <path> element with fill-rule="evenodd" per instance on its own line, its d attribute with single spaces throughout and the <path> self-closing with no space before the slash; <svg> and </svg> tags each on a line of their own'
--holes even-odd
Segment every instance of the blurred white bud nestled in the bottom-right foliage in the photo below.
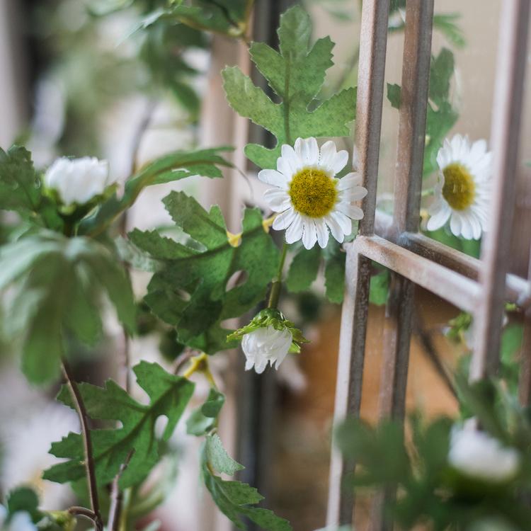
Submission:
<svg viewBox="0 0 531 531">
<path fill-rule="evenodd" d="M 465 427 L 452 431 L 448 462 L 466 476 L 503 483 L 518 473 L 520 455 L 491 435 Z"/>
</svg>

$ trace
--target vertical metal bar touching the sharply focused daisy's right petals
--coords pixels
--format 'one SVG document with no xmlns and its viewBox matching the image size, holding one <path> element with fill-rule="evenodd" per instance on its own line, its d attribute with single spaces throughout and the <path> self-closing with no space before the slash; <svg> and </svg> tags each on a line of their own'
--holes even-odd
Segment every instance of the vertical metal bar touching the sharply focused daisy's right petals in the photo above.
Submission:
<svg viewBox="0 0 531 531">
<path fill-rule="evenodd" d="M 384 98 L 385 54 L 389 0 L 364 0 L 360 33 L 358 68 L 358 105 L 356 144 L 360 157 L 359 171 L 368 193 L 362 203 L 365 217 L 360 234 L 373 234 L 375 227 L 376 188 L 379 143 Z M 362 390 L 363 358 L 369 307 L 370 260 L 349 246 L 346 266 L 346 292 L 341 320 L 336 408 L 334 424 L 348 415 L 359 415 Z M 343 478 L 353 469 L 333 447 L 330 467 L 327 525 L 352 523 L 354 497 L 343 491 Z"/>
</svg>

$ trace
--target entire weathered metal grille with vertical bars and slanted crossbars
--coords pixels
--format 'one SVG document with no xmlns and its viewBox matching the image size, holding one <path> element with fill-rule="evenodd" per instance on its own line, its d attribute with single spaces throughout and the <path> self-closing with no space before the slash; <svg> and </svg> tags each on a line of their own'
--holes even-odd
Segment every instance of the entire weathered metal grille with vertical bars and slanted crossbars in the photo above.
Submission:
<svg viewBox="0 0 531 531">
<path fill-rule="evenodd" d="M 503 0 L 501 3 L 491 129 L 494 157 L 491 222 L 482 242 L 481 260 L 418 232 L 433 3 L 434 0 L 407 0 L 406 3 L 392 219 L 375 212 L 389 0 L 364 0 L 362 4 L 356 145 L 368 194 L 358 237 L 346 246 L 346 296 L 341 321 L 335 423 L 360 413 L 371 261 L 392 270 L 384 326 L 379 403 L 382 417 L 404 418 L 415 285 L 474 314 L 472 379 L 496 372 L 503 302 L 509 300 L 522 307 L 529 306 L 531 271 L 527 280 L 508 275 L 506 256 L 515 204 L 530 0 Z M 524 343 L 520 399 L 527 403 L 531 395 L 530 310 L 525 317 Z M 343 477 L 353 466 L 332 450 L 328 525 L 350 524 L 353 520 L 353 495 L 342 489 Z M 387 527 L 382 516 L 385 495 L 376 496 L 373 502 L 371 528 L 374 530 Z"/>
</svg>

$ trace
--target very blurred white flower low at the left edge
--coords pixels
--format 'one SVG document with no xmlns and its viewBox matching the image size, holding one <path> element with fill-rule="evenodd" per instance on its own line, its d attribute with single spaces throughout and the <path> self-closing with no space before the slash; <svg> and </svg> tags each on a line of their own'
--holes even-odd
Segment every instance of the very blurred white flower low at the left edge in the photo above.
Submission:
<svg viewBox="0 0 531 531">
<path fill-rule="evenodd" d="M 64 507 L 72 496 L 70 487 L 42 479 L 42 472 L 62 461 L 48 452 L 52 442 L 61 440 L 70 431 L 79 431 L 76 413 L 52 403 L 30 416 L 21 413 L 12 418 L 4 419 L 1 426 L 1 489 L 11 491 L 27 485 L 38 493 L 41 508 Z"/>
</svg>

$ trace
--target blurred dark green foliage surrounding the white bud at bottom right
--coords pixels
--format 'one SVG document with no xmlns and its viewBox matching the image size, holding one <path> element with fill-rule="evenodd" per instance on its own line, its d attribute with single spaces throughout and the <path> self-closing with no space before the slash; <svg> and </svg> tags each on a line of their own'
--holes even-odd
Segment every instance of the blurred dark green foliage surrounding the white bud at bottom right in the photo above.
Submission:
<svg viewBox="0 0 531 531">
<path fill-rule="evenodd" d="M 527 409 L 518 406 L 503 386 L 489 381 L 471 386 L 460 380 L 459 391 L 467 416 L 476 417 L 501 445 L 518 451 L 520 473 L 513 479 L 493 483 L 452 467 L 448 458 L 456 429 L 452 419 L 427 422 L 416 414 L 409 418 L 411 442 L 398 421 L 370 426 L 359 419 L 349 420 L 338 428 L 338 446 L 357 463 L 347 484 L 356 491 L 397 487 L 396 501 L 387 498 L 386 510 L 402 529 L 422 524 L 440 531 L 469 530 L 486 520 L 510 529 L 530 529 L 526 499 L 531 489 L 531 423 Z"/>
</svg>

